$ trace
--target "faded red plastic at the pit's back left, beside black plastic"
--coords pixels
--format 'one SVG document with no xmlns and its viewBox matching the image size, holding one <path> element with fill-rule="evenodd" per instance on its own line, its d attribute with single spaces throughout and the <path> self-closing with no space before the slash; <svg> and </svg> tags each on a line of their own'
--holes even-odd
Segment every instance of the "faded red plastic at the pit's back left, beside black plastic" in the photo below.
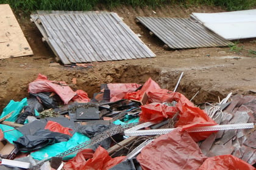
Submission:
<svg viewBox="0 0 256 170">
<path fill-rule="evenodd" d="M 66 83 L 64 81 L 51 81 L 45 75 L 38 74 L 37 79 L 29 83 L 29 92 L 32 94 L 55 92 L 64 104 L 67 104 L 76 95 L 76 92 L 69 86 L 63 86 L 62 84 Z"/>
</svg>

